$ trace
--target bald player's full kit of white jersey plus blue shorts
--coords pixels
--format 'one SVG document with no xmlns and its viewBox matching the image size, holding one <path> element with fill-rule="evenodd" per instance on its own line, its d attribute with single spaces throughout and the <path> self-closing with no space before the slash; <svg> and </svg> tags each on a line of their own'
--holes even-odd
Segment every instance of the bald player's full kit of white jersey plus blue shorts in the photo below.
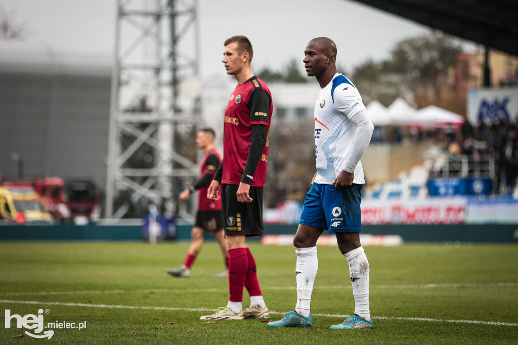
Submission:
<svg viewBox="0 0 518 345">
<path fill-rule="evenodd" d="M 353 185 L 337 190 L 333 181 L 344 170 L 356 125 L 350 120 L 365 110 L 354 84 L 337 73 L 320 90 L 315 105 L 316 177 L 300 215 L 300 224 L 336 232 L 361 231 L 362 163 L 354 169 Z"/>
</svg>

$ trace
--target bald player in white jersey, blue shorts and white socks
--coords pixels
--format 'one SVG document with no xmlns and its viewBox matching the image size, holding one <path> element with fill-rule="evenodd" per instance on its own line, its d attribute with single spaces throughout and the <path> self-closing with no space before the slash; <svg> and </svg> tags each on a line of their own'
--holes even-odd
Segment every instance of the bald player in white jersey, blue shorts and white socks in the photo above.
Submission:
<svg viewBox="0 0 518 345">
<path fill-rule="evenodd" d="M 268 326 L 313 326 L 310 301 L 318 269 L 316 240 L 327 230 L 336 234 L 338 248 L 349 264 L 355 301 L 352 317 L 331 328 L 372 328 L 369 262 L 359 241 L 360 192 L 365 183 L 359 159 L 369 145 L 374 127 L 354 84 L 337 73 L 335 42 L 326 37 L 314 38 L 304 54 L 308 76 L 315 77 L 321 87 L 314 112 L 316 173 L 293 240 L 297 254 L 297 305 L 294 311 Z"/>
</svg>

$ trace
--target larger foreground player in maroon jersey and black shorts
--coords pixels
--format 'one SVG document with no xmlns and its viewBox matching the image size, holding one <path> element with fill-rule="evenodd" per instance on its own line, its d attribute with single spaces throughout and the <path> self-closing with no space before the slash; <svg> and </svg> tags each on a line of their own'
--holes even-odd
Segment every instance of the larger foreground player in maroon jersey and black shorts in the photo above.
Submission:
<svg viewBox="0 0 518 345">
<path fill-rule="evenodd" d="M 207 196 L 218 200 L 221 186 L 230 296 L 226 307 L 200 319 L 268 318 L 270 314 L 246 238 L 263 235 L 263 187 L 273 107 L 271 93 L 252 72 L 250 40 L 245 36 L 233 36 L 225 41 L 224 46 L 222 62 L 227 74 L 236 78 L 237 87 L 225 110 L 223 163 L 209 186 Z M 243 287 L 250 295 L 250 306 L 244 310 Z"/>
</svg>

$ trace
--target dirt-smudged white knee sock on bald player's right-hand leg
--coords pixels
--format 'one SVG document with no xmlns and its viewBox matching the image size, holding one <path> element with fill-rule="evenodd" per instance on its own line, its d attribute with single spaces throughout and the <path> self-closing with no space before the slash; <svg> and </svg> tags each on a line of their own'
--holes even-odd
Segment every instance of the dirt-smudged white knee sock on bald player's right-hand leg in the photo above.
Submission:
<svg viewBox="0 0 518 345">
<path fill-rule="evenodd" d="M 343 256 L 349 264 L 349 275 L 353 285 L 354 313 L 370 320 L 369 309 L 369 261 L 363 247 L 358 247 Z"/>
</svg>

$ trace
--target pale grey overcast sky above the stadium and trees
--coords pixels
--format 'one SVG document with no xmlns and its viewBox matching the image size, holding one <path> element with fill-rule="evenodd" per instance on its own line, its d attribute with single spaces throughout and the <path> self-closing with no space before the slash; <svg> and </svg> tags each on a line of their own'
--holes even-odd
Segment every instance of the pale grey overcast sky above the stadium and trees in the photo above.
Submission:
<svg viewBox="0 0 518 345">
<path fill-rule="evenodd" d="M 26 41 L 113 56 L 116 0 L 2 0 L 0 6 L 23 24 Z M 333 39 L 338 65 L 350 70 L 367 59 L 389 56 L 401 39 L 430 32 L 349 0 L 198 0 L 198 12 L 203 77 L 224 75 L 223 41 L 236 34 L 250 38 L 252 67 L 258 71 L 264 66 L 279 70 L 293 58 L 302 65 L 304 48 L 314 37 Z"/>
</svg>

